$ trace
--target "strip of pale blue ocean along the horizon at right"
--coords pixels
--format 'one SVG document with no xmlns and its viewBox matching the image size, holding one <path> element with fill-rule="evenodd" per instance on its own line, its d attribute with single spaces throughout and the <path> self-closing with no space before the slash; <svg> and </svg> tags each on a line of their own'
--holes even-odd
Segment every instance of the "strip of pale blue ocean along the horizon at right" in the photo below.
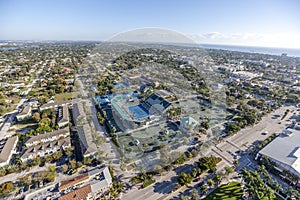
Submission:
<svg viewBox="0 0 300 200">
<path fill-rule="evenodd" d="M 229 51 L 240 51 L 247 53 L 262 53 L 280 56 L 286 53 L 291 57 L 300 57 L 300 49 L 289 48 L 272 48 L 272 47 L 253 47 L 253 46 L 233 46 L 233 45 L 214 45 L 214 44 L 201 44 L 200 47 L 206 49 L 222 49 Z"/>
</svg>

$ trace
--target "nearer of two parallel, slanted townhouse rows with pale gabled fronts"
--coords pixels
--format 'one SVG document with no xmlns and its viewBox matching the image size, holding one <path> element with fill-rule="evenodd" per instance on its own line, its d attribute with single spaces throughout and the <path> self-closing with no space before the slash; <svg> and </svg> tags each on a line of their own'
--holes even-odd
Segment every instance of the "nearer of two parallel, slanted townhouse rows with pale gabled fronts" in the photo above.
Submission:
<svg viewBox="0 0 300 200">
<path fill-rule="evenodd" d="M 61 150 L 66 150 L 71 147 L 70 137 L 62 138 L 59 140 L 53 140 L 45 143 L 40 143 L 35 146 L 31 146 L 23 151 L 21 156 L 22 162 L 34 159 L 36 157 L 44 157 L 51 155 Z"/>
</svg>

